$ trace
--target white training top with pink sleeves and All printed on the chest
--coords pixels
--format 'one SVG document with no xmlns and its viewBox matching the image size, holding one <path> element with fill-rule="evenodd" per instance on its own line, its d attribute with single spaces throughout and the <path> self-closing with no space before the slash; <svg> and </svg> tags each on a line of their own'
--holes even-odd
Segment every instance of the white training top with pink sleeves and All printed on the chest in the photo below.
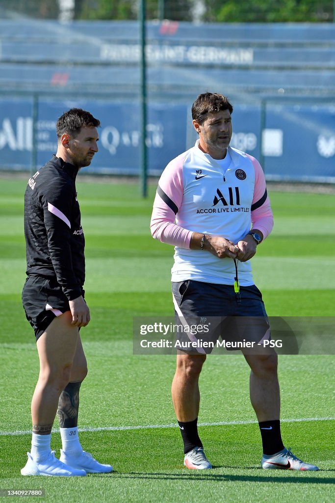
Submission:
<svg viewBox="0 0 335 503">
<path fill-rule="evenodd" d="M 271 232 L 273 216 L 262 168 L 245 152 L 228 147 L 213 159 L 198 147 L 178 155 L 158 183 L 151 217 L 154 238 L 175 246 L 172 281 L 193 279 L 233 285 L 234 261 L 190 249 L 192 232 L 225 237 L 234 243 L 251 228 Z M 241 286 L 253 285 L 250 261 L 239 262 Z"/>
</svg>

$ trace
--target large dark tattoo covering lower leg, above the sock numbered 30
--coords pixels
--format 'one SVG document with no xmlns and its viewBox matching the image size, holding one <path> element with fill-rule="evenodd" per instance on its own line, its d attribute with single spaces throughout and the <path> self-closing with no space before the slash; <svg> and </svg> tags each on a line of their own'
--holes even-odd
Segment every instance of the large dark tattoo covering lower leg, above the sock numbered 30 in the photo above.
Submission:
<svg viewBox="0 0 335 503">
<path fill-rule="evenodd" d="M 57 410 L 60 428 L 74 428 L 78 424 L 80 385 L 81 382 L 69 382 L 61 392 Z"/>
</svg>

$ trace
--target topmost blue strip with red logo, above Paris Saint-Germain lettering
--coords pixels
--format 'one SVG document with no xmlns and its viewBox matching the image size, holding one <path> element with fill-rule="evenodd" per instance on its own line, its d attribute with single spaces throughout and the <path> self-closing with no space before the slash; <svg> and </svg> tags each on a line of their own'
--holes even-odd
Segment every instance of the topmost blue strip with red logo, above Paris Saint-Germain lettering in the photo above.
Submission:
<svg viewBox="0 0 335 503">
<path fill-rule="evenodd" d="M 313 43 L 334 40 L 335 26 L 331 23 L 204 23 L 149 21 L 147 36 L 149 39 L 194 39 L 224 40 L 228 42 L 310 42 Z M 95 37 L 98 39 L 130 39 L 139 38 L 137 21 L 74 21 L 59 23 L 57 21 L 31 20 L 24 21 L 0 20 L 0 34 L 5 37 L 22 37 L 62 40 Z"/>
</svg>

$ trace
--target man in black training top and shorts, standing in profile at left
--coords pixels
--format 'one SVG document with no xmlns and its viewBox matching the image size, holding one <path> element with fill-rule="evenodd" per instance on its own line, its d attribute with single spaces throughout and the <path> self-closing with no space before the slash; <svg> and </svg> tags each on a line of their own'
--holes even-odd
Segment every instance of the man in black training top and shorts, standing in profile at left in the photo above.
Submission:
<svg viewBox="0 0 335 503">
<path fill-rule="evenodd" d="M 84 234 L 75 179 L 98 151 L 100 121 L 72 108 L 56 123 L 57 153 L 29 180 L 25 193 L 27 279 L 22 292 L 35 331 L 40 374 L 32 399 L 33 436 L 22 475 L 73 476 L 110 472 L 78 439 L 79 389 L 87 374 L 79 329 L 90 320 L 84 300 Z M 50 449 L 58 415 L 58 460 Z"/>
</svg>

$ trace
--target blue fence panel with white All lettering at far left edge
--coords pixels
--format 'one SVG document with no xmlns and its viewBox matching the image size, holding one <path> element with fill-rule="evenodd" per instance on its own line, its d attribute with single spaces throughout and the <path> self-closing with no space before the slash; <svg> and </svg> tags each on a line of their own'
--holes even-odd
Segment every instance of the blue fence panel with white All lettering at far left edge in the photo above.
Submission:
<svg viewBox="0 0 335 503">
<path fill-rule="evenodd" d="M 0 100 L 0 166 L 29 169 L 33 145 L 33 100 Z"/>
</svg>

